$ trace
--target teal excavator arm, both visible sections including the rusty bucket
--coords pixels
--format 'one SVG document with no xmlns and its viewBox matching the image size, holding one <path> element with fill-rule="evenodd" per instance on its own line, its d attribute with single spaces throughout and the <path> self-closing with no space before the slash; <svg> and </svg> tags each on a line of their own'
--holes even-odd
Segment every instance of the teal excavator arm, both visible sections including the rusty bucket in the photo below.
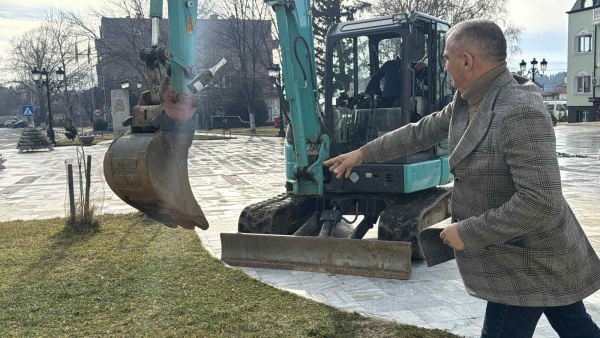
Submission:
<svg viewBox="0 0 600 338">
<path fill-rule="evenodd" d="M 286 184 L 292 195 L 323 194 L 323 161 L 329 136 L 323 132 L 309 0 L 268 0 L 276 14 L 282 50 L 286 100 L 290 103 L 294 159 Z M 194 137 L 195 98 L 224 60 L 192 75 L 195 62 L 197 5 L 168 0 L 169 48 L 159 46 L 163 1 L 151 0 L 152 45 L 140 51 L 150 90 L 144 92 L 126 121 L 131 132 L 117 138 L 104 159 L 111 189 L 123 201 L 171 227 L 208 228 L 189 183 L 187 158 Z"/>
</svg>

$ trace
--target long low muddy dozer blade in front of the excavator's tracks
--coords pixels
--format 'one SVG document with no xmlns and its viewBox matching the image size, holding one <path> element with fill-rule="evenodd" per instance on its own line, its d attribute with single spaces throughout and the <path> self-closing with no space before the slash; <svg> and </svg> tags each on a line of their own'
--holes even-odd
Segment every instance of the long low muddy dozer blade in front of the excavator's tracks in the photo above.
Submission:
<svg viewBox="0 0 600 338">
<path fill-rule="evenodd" d="M 410 242 L 221 233 L 221 260 L 233 266 L 409 279 Z"/>
</svg>

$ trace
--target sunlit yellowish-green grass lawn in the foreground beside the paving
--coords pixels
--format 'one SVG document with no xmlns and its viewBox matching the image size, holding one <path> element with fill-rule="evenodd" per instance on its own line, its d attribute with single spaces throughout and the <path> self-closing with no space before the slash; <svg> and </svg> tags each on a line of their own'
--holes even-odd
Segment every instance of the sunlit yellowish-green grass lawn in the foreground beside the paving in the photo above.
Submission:
<svg viewBox="0 0 600 338">
<path fill-rule="evenodd" d="M 0 337 L 456 337 L 276 289 L 139 213 L 101 228 L 0 223 Z"/>
</svg>

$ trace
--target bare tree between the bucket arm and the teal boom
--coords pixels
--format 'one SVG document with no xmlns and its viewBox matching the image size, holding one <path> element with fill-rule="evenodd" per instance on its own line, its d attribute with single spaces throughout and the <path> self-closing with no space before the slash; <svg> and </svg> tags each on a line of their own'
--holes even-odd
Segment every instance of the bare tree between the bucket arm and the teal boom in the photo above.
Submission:
<svg viewBox="0 0 600 338">
<path fill-rule="evenodd" d="M 262 1 L 232 0 L 215 5 L 214 9 L 227 19 L 218 20 L 212 27 L 208 45 L 217 46 L 228 59 L 228 74 L 243 93 L 250 129 L 255 131 L 257 102 L 262 101 L 263 91 L 271 86 L 266 71 L 275 48 L 270 8 Z"/>
</svg>

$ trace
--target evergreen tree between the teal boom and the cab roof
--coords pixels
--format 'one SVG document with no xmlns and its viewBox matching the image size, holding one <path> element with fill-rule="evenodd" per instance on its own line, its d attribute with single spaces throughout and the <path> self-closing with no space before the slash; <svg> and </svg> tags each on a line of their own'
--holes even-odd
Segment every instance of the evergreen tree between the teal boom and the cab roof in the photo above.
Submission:
<svg viewBox="0 0 600 338">
<path fill-rule="evenodd" d="M 371 4 L 361 0 L 322 0 L 313 1 L 313 34 L 315 36 L 315 57 L 317 76 L 325 77 L 325 39 L 327 30 L 333 24 L 353 21 L 356 14 L 368 10 Z M 322 85 L 322 83 L 321 83 Z"/>
</svg>

